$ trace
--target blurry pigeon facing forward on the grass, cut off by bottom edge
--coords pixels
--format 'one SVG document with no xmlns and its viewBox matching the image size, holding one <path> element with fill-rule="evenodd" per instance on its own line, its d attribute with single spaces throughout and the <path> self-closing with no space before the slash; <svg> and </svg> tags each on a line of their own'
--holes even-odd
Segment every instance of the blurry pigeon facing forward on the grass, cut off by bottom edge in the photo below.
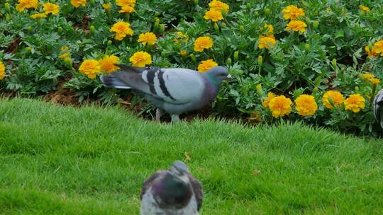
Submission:
<svg viewBox="0 0 383 215">
<path fill-rule="evenodd" d="M 141 215 L 197 215 L 204 192 L 199 180 L 182 161 L 170 170 L 159 170 L 143 184 Z"/>
</svg>

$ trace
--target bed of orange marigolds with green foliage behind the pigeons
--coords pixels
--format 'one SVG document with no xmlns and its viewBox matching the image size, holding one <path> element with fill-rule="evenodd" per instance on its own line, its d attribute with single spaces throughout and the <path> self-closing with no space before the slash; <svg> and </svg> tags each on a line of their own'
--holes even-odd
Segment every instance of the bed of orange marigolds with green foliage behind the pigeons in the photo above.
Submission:
<svg viewBox="0 0 383 215">
<path fill-rule="evenodd" d="M 125 98 L 99 74 L 133 66 L 227 66 L 213 112 L 373 134 L 383 6 L 363 1 L 3 1 L 0 87 L 81 102 Z M 192 89 L 191 89 L 192 90 Z M 276 120 L 278 119 L 278 120 Z"/>
</svg>

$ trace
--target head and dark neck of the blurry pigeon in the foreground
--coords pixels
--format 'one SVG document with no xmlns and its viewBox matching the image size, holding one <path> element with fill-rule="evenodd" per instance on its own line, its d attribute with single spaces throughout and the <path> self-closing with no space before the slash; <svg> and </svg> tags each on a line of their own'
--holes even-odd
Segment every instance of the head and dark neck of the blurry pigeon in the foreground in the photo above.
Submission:
<svg viewBox="0 0 383 215">
<path fill-rule="evenodd" d="M 175 161 L 170 170 L 165 171 L 162 177 L 153 184 L 152 188 L 155 199 L 161 207 L 185 207 L 193 193 L 187 165 L 182 161 Z"/>
</svg>

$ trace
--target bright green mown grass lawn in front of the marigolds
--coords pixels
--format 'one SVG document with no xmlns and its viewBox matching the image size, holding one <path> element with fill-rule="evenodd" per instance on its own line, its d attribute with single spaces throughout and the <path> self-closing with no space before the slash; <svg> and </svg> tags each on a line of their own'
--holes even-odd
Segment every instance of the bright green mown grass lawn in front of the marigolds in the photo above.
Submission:
<svg viewBox="0 0 383 215">
<path fill-rule="evenodd" d="M 383 211 L 382 140 L 13 99 L 0 100 L 0 214 L 138 214 L 143 180 L 185 151 L 202 214 Z"/>
</svg>

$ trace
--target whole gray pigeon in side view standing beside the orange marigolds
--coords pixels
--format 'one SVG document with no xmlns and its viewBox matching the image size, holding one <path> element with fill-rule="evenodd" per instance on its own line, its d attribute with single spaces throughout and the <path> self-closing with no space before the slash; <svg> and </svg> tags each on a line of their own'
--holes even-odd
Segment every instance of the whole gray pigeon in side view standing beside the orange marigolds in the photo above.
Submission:
<svg viewBox="0 0 383 215">
<path fill-rule="evenodd" d="M 172 122 L 177 122 L 182 112 L 203 108 L 216 98 L 222 81 L 231 78 L 223 66 L 200 73 L 191 69 L 116 65 L 123 71 L 101 76 L 102 83 L 144 93 L 145 99 L 157 108 L 157 121 L 165 112 L 171 115 Z"/>
</svg>

